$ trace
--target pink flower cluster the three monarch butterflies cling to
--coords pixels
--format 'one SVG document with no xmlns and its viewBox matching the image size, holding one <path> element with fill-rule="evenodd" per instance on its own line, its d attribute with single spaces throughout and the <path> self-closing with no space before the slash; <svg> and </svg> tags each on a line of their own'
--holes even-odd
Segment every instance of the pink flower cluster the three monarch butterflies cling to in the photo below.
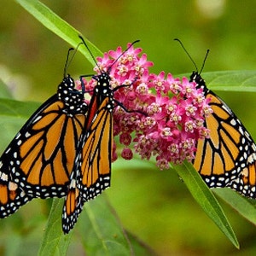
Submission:
<svg viewBox="0 0 256 256">
<path fill-rule="evenodd" d="M 154 155 L 162 170 L 169 168 L 169 162 L 177 164 L 195 157 L 197 140 L 209 136 L 204 120 L 212 109 L 195 82 L 174 79 L 171 73 L 149 73 L 153 62 L 141 52 L 133 46 L 124 54 L 121 47 L 110 50 L 97 58 L 95 70 L 99 73 L 99 68 L 107 71 L 111 67 L 112 88 L 129 85 L 114 90 L 114 99 L 120 105 L 113 111 L 113 135 L 119 136 L 119 143 L 125 146 L 121 156 L 131 160 L 131 148 L 135 148 L 143 159 Z M 85 84 L 86 90 L 92 90 L 95 80 Z M 117 159 L 115 148 L 113 160 Z"/>
</svg>

